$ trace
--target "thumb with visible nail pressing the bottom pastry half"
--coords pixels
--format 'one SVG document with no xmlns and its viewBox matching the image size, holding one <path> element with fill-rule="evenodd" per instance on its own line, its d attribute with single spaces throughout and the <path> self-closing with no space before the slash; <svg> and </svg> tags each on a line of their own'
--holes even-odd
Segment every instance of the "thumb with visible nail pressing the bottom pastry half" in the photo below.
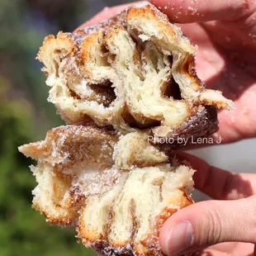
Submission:
<svg viewBox="0 0 256 256">
<path fill-rule="evenodd" d="M 222 242 L 256 244 L 256 197 L 202 201 L 175 213 L 163 225 L 164 254 L 179 255 Z"/>
</svg>

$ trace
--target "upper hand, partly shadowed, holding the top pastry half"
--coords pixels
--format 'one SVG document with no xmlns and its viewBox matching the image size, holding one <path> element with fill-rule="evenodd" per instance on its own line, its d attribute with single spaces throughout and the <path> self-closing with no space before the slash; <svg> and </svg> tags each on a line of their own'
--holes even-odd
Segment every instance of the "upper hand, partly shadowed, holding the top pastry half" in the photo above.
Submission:
<svg viewBox="0 0 256 256">
<path fill-rule="evenodd" d="M 197 44 L 197 73 L 209 88 L 219 89 L 236 103 L 220 112 L 223 143 L 256 136 L 256 1 L 153 0 L 185 35 Z M 112 17 L 125 7 L 106 9 L 83 26 Z M 195 22 L 195 23 L 192 23 Z M 216 139 L 218 140 L 218 139 Z"/>
</svg>

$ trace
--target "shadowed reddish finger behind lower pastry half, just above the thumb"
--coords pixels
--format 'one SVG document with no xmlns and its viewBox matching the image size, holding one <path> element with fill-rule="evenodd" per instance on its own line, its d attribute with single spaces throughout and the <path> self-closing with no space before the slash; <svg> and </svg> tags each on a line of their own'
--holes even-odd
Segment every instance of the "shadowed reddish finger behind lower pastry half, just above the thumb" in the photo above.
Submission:
<svg viewBox="0 0 256 256">
<path fill-rule="evenodd" d="M 193 177 L 197 189 L 214 199 L 234 200 L 256 194 L 256 174 L 230 173 L 183 152 L 178 152 L 178 158 L 192 164 L 197 170 Z"/>
</svg>

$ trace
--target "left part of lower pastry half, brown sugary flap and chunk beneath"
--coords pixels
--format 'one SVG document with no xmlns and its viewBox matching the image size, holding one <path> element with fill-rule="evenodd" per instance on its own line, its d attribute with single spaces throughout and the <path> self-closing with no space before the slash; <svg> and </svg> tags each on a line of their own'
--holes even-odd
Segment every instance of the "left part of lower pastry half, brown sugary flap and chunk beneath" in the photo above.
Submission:
<svg viewBox="0 0 256 256">
<path fill-rule="evenodd" d="M 117 140 L 112 131 L 61 126 L 45 140 L 19 147 L 38 161 L 31 166 L 38 183 L 33 191 L 36 210 L 52 224 L 75 225 L 84 197 L 107 192 L 121 175 L 112 168 Z"/>
</svg>

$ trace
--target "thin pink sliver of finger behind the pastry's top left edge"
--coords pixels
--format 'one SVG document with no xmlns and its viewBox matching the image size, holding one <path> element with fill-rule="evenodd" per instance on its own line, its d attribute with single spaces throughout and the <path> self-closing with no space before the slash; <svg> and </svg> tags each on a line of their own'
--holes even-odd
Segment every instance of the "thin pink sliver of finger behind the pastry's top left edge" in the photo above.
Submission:
<svg viewBox="0 0 256 256">
<path fill-rule="evenodd" d="M 102 12 L 97 13 L 96 16 L 92 17 L 91 20 L 83 23 L 83 25 L 79 26 L 76 31 L 79 29 L 83 29 L 86 26 L 92 26 L 93 24 L 96 24 L 97 22 L 101 22 L 104 20 L 107 20 L 113 16 L 115 16 L 117 13 L 123 11 L 126 9 L 126 7 L 129 7 L 130 5 L 136 4 L 139 2 L 132 2 L 132 3 L 127 3 L 127 4 L 122 4 L 116 7 L 110 7 L 110 8 L 105 8 Z"/>
</svg>

